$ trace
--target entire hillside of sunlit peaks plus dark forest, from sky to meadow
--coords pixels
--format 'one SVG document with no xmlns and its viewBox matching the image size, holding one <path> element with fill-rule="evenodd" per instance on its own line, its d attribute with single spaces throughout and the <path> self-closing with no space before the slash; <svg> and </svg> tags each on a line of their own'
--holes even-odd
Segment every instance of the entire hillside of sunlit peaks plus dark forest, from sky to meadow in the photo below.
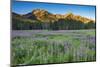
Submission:
<svg viewBox="0 0 100 67">
<path fill-rule="evenodd" d="M 52 14 L 46 10 L 35 9 L 30 13 L 20 15 L 12 13 L 12 28 L 14 30 L 26 29 L 93 29 L 95 21 L 73 13 L 65 15 Z"/>
</svg>

